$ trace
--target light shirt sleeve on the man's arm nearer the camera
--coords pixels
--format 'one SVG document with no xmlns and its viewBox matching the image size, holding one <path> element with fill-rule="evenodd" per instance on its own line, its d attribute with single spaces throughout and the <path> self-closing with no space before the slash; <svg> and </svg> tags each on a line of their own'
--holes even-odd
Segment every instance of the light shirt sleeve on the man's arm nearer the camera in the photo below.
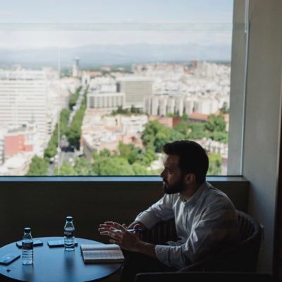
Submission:
<svg viewBox="0 0 282 282">
<path fill-rule="evenodd" d="M 192 224 L 192 232 L 182 245 L 156 245 L 157 258 L 167 266 L 183 268 L 202 259 L 208 252 L 231 243 L 228 234 L 238 238 L 237 214 L 233 209 L 218 207 L 200 216 Z M 235 242 L 235 240 L 234 240 Z"/>
</svg>

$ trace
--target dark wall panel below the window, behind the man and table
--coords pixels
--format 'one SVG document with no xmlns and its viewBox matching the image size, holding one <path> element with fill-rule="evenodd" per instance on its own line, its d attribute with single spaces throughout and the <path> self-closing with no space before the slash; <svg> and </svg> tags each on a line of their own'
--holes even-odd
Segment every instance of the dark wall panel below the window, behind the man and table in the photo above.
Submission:
<svg viewBox="0 0 282 282">
<path fill-rule="evenodd" d="M 220 179 L 210 182 L 226 192 L 237 209 L 247 212 L 248 181 Z M 0 180 L 0 247 L 21 240 L 25 227 L 32 228 L 33 238 L 63 236 L 66 216 L 73 216 L 77 237 L 109 243 L 99 235 L 99 223 L 132 222 L 162 197 L 161 187 L 160 180 Z"/>
</svg>

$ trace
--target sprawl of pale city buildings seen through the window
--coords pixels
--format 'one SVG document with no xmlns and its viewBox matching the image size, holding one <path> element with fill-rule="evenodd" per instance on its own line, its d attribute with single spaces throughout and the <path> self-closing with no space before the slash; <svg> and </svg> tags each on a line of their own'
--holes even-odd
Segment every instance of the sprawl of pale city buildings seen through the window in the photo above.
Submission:
<svg viewBox="0 0 282 282">
<path fill-rule="evenodd" d="M 77 64 L 80 65 L 78 61 Z M 74 73 L 75 76 L 68 78 L 59 78 L 57 71 L 51 68 L 42 71 L 1 70 L 0 174 L 24 175 L 30 171 L 37 175 L 39 171 L 34 169 L 41 166 L 47 169 L 44 175 L 51 175 L 54 166 L 58 166 L 56 173 L 60 174 L 60 169 L 66 173 L 65 166 L 75 169 L 78 155 L 85 155 L 91 163 L 94 152 L 102 149 L 109 149 L 113 154 L 118 152 L 120 141 L 124 145 L 134 143 L 146 150 L 145 141 L 142 141 L 146 134 L 143 136 L 142 130 L 147 122 L 154 120 L 162 124 L 161 128 L 166 127 L 159 128 L 164 130 L 166 138 L 189 134 L 192 139 L 201 139 L 209 152 L 217 154 L 216 158 L 226 159 L 228 116 L 219 117 L 220 132 L 216 131 L 215 135 L 204 130 L 203 123 L 214 114 L 220 114 L 219 109 L 228 109 L 230 68 L 225 64 L 200 61 L 192 62 L 190 66 L 152 63 L 133 66 L 133 73 L 104 68 L 109 73 L 103 75 L 103 70 L 83 72 L 80 69 L 81 77 Z M 34 101 L 38 90 L 42 90 L 45 102 Z M 147 102 L 146 97 L 149 98 Z M 23 103 L 23 99 L 27 103 Z M 123 109 L 123 102 L 127 99 L 128 105 L 125 104 Z M 35 109 L 45 118 L 38 116 Z M 120 121 L 115 112 L 121 114 Z M 176 131 L 176 121 L 180 122 L 180 116 L 186 121 L 185 115 L 191 123 L 185 123 L 185 130 Z M 44 132 L 39 131 L 41 121 L 45 121 Z M 193 127 L 193 122 L 202 125 Z M 190 130 L 188 126 L 192 126 Z M 200 131 L 199 126 L 202 128 Z M 44 140 L 44 144 L 39 142 L 39 133 L 43 133 L 40 140 Z M 5 145 L 7 142 L 9 146 Z M 155 154 L 159 152 L 159 141 L 154 146 Z M 157 164 L 152 164 L 153 160 L 158 161 L 157 155 L 149 163 L 148 160 L 141 161 L 141 166 L 137 165 L 139 172 L 133 170 L 133 164 L 128 164 L 131 171 L 128 173 L 144 174 L 149 173 L 152 167 L 157 169 Z M 36 164 L 37 161 L 42 164 Z M 225 168 L 222 167 L 223 171 Z M 220 173 L 219 170 L 220 166 L 216 165 L 216 173 Z M 93 173 L 99 175 L 100 172 Z"/>
</svg>

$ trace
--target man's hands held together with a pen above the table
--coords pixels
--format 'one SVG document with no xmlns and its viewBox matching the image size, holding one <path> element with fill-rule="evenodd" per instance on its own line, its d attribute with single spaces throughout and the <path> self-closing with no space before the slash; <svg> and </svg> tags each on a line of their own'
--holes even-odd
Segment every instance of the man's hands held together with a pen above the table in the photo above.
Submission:
<svg viewBox="0 0 282 282">
<path fill-rule="evenodd" d="M 140 228 L 140 224 L 136 223 L 130 228 Z M 105 221 L 99 225 L 98 231 L 101 235 L 109 236 L 109 242 L 119 245 L 122 249 L 131 252 L 137 252 L 140 245 L 140 238 L 138 232 L 130 232 L 127 230 L 125 224 L 121 225 L 113 221 Z"/>
</svg>

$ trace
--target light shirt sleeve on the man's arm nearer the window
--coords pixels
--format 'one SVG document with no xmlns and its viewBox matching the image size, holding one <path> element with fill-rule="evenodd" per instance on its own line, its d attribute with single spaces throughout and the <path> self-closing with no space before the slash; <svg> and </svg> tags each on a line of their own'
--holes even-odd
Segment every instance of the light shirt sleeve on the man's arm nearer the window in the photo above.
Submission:
<svg viewBox="0 0 282 282">
<path fill-rule="evenodd" d="M 159 221 L 171 219 L 173 213 L 173 195 L 164 195 L 158 202 L 149 209 L 137 215 L 135 221 L 142 222 L 148 229 L 151 229 Z"/>
</svg>

